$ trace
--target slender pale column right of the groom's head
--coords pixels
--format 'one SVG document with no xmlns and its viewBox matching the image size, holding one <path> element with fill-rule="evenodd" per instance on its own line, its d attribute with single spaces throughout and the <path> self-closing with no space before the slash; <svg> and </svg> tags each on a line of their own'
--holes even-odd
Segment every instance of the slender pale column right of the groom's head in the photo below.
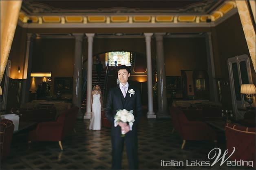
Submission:
<svg viewBox="0 0 256 170">
<path fill-rule="evenodd" d="M 148 74 L 148 118 L 156 118 L 153 111 L 153 91 L 152 91 L 152 64 L 151 64 L 151 37 L 153 33 L 144 33 L 146 37 L 147 52 L 147 74 Z"/>
</svg>

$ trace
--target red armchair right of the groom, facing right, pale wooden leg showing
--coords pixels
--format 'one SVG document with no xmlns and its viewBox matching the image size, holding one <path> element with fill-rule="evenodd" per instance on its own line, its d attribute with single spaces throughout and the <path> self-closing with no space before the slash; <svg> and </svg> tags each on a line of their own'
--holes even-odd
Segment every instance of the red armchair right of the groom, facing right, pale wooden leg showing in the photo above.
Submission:
<svg viewBox="0 0 256 170">
<path fill-rule="evenodd" d="M 185 114 L 176 107 L 170 107 L 172 124 L 183 139 L 181 149 L 184 148 L 186 140 L 212 140 L 217 142 L 216 132 L 201 121 L 188 121 Z"/>
</svg>

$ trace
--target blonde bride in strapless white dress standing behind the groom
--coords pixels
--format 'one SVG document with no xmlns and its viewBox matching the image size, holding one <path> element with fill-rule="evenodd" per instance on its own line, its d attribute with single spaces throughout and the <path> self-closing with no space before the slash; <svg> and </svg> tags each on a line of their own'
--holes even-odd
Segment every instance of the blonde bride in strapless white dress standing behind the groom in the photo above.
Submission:
<svg viewBox="0 0 256 170">
<path fill-rule="evenodd" d="M 101 109 L 102 92 L 98 84 L 95 84 L 92 91 L 92 116 L 90 118 L 89 130 L 100 130 L 101 127 Z"/>
</svg>

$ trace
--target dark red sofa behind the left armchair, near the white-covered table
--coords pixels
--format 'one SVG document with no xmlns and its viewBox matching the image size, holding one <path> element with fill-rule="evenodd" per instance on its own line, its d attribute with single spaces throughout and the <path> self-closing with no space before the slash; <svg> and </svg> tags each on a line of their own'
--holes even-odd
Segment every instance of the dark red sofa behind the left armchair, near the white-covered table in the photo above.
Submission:
<svg viewBox="0 0 256 170">
<path fill-rule="evenodd" d="M 37 108 L 11 108 L 11 114 L 18 114 L 22 122 L 45 122 L 56 120 L 56 108 L 52 105 Z"/>
</svg>

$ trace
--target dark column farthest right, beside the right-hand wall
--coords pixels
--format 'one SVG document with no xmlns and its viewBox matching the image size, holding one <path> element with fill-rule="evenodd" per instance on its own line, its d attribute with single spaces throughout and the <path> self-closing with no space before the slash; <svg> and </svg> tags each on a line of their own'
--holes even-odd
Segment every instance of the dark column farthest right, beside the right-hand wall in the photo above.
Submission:
<svg viewBox="0 0 256 170">
<path fill-rule="evenodd" d="M 214 56 L 212 49 L 212 33 L 207 32 L 204 34 L 206 43 L 206 54 L 207 54 L 207 67 L 209 76 L 209 89 L 210 89 L 210 100 L 218 102 L 218 90 L 217 82 L 215 79 L 215 67 L 214 67 Z"/>
</svg>

